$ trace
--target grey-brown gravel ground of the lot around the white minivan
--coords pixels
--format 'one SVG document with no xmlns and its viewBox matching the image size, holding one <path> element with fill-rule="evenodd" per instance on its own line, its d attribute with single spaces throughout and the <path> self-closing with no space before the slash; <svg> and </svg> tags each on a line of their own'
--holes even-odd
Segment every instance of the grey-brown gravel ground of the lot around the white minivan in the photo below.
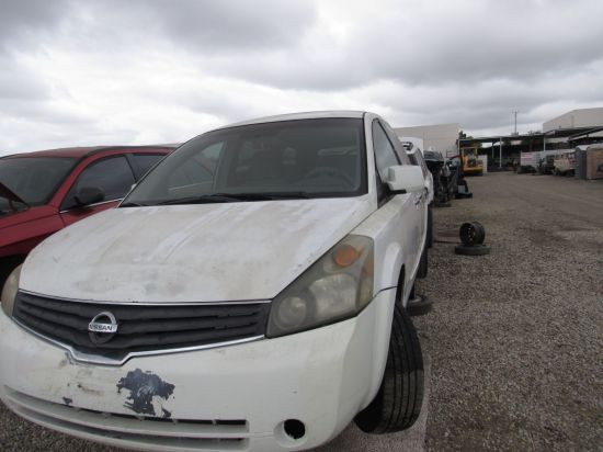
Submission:
<svg viewBox="0 0 603 452">
<path fill-rule="evenodd" d="M 474 197 L 436 210 L 436 230 L 477 219 L 492 252 L 460 257 L 451 244 L 430 252 L 420 292 L 435 305 L 414 318 L 431 362 L 426 448 L 601 450 L 603 181 L 468 181 Z M 354 434 L 330 445 L 361 450 Z M 390 438 L 391 451 L 405 449 Z M 1 404 L 0 450 L 117 451 L 34 426 Z"/>
</svg>

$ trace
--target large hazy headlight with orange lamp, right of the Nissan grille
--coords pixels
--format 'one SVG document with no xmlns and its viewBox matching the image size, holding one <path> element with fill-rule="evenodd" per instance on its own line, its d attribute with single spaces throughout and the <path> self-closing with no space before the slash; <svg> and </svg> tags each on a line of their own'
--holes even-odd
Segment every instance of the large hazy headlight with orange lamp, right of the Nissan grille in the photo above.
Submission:
<svg viewBox="0 0 603 452">
<path fill-rule="evenodd" d="M 373 240 L 348 236 L 272 302 L 268 337 L 317 328 L 360 313 L 373 298 Z"/>
</svg>

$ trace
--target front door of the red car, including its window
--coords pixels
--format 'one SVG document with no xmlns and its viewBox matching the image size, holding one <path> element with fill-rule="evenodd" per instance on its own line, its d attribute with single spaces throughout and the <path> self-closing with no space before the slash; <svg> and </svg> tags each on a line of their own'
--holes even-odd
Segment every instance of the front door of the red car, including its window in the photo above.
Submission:
<svg viewBox="0 0 603 452">
<path fill-rule="evenodd" d="M 126 195 L 134 182 L 134 173 L 125 156 L 110 156 L 92 161 L 78 176 L 60 204 L 60 216 L 65 226 L 114 207 Z M 104 199 L 92 204 L 79 205 L 76 194 L 87 188 L 101 189 Z"/>
</svg>

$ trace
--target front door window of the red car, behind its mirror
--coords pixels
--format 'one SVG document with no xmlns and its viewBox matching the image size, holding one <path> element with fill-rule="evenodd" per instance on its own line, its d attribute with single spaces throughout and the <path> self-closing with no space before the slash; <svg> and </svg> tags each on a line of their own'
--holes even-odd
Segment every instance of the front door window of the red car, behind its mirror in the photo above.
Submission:
<svg viewBox="0 0 603 452">
<path fill-rule="evenodd" d="M 73 196 L 82 188 L 99 188 L 104 193 L 104 201 L 113 201 L 124 197 L 134 182 L 134 174 L 124 156 L 95 161 L 79 176 L 61 208 L 73 207 Z"/>
</svg>

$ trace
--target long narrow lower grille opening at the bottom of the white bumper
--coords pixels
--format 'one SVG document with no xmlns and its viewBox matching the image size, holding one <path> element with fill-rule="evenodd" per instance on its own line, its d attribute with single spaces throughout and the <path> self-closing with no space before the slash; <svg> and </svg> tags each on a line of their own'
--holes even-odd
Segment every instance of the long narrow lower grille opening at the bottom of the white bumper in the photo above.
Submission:
<svg viewBox="0 0 603 452">
<path fill-rule="evenodd" d="M 56 404 L 7 386 L 4 393 L 9 407 L 34 422 L 99 441 L 112 438 L 132 449 L 242 451 L 251 437 L 244 419 L 140 417 Z"/>
</svg>

